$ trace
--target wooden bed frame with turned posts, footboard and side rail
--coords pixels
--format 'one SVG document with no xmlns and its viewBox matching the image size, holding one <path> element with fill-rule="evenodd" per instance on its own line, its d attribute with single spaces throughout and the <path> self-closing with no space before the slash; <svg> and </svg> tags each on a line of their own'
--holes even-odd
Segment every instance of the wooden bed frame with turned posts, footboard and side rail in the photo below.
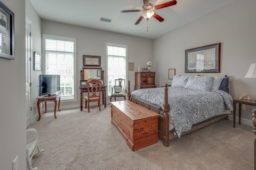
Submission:
<svg viewBox="0 0 256 170">
<path fill-rule="evenodd" d="M 225 75 L 225 77 L 227 77 Z M 178 135 L 174 135 L 172 132 L 169 132 L 169 115 L 168 115 L 168 111 L 170 110 L 170 105 L 168 103 L 168 85 L 167 83 L 164 85 L 164 104 L 163 104 L 163 109 L 161 109 L 161 107 L 158 107 L 156 105 L 153 105 L 151 103 L 147 103 L 145 101 L 142 101 L 136 97 L 131 97 L 131 92 L 130 92 L 130 80 L 128 81 L 128 93 L 127 93 L 127 97 L 129 101 L 132 101 L 138 105 L 141 105 L 155 113 L 159 114 L 158 117 L 158 138 L 163 140 L 163 145 L 168 147 L 169 146 L 169 140 L 177 138 Z M 186 132 L 182 132 L 181 135 L 187 134 L 189 132 L 192 132 L 194 130 L 197 130 L 199 128 L 205 127 L 207 125 L 210 125 L 211 123 L 214 123 L 220 119 L 225 118 L 226 120 L 228 120 L 228 114 L 223 114 L 223 115 L 219 115 L 218 117 L 214 118 L 214 119 L 209 119 L 207 121 L 204 121 L 204 123 L 200 124 L 200 125 L 196 125 L 193 126 L 189 131 Z M 256 123 L 256 118 L 255 118 L 255 123 Z M 255 124 L 256 125 L 256 124 Z M 256 126 L 255 126 L 256 127 Z M 256 134 L 256 130 L 255 130 L 255 134 Z M 254 155 L 256 155 L 256 142 L 254 142 Z M 256 159 L 256 156 L 254 156 Z"/>
</svg>

